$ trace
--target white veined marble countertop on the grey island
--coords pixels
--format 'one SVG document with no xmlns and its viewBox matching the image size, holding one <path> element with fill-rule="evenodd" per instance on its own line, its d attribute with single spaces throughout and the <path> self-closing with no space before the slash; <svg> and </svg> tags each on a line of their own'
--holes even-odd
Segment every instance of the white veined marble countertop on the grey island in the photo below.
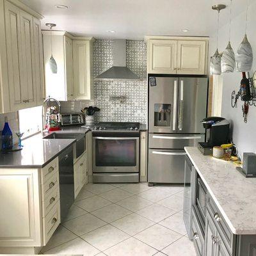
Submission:
<svg viewBox="0 0 256 256">
<path fill-rule="evenodd" d="M 256 179 L 245 178 L 234 163 L 185 147 L 214 202 L 234 234 L 256 234 Z"/>
</svg>

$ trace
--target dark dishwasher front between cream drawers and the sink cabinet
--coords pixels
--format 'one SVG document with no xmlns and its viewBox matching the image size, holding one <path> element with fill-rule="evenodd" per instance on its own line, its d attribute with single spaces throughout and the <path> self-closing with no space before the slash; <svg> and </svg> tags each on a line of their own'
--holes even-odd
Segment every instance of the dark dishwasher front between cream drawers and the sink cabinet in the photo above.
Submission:
<svg viewBox="0 0 256 256">
<path fill-rule="evenodd" d="M 65 220 L 68 209 L 74 203 L 74 152 L 73 144 L 59 156 L 60 173 L 60 214 L 61 221 Z"/>
</svg>

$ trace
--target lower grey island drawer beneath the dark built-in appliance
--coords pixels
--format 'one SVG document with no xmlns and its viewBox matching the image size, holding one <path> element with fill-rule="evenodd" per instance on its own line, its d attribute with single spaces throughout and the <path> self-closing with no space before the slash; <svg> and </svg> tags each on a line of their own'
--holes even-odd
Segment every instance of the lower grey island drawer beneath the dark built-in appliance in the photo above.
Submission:
<svg viewBox="0 0 256 256">
<path fill-rule="evenodd" d="M 204 255 L 204 232 L 200 228 L 200 223 L 198 218 L 196 217 L 196 212 L 194 207 L 192 207 L 192 236 L 193 236 L 193 244 L 195 246 L 196 255 L 203 256 Z"/>
</svg>

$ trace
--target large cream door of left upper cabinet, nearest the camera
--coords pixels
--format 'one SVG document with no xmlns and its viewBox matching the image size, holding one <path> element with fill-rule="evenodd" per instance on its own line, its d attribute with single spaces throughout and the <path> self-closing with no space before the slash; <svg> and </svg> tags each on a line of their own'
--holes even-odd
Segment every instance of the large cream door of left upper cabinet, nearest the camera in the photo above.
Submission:
<svg viewBox="0 0 256 256">
<path fill-rule="evenodd" d="M 27 96 L 21 83 L 22 70 L 20 70 L 20 65 L 22 65 L 22 49 L 20 47 L 19 8 L 8 1 L 4 1 L 4 16 L 10 108 L 14 111 L 26 105 L 26 102 L 23 102 L 23 100 Z"/>
</svg>

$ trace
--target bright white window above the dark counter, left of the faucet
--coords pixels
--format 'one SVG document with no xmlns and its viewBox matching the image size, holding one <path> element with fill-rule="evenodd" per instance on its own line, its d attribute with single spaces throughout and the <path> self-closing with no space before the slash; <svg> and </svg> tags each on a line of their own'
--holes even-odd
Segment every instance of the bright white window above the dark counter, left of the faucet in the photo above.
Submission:
<svg viewBox="0 0 256 256">
<path fill-rule="evenodd" d="M 22 139 L 42 130 L 42 106 L 19 110 L 19 129 Z"/>
</svg>

